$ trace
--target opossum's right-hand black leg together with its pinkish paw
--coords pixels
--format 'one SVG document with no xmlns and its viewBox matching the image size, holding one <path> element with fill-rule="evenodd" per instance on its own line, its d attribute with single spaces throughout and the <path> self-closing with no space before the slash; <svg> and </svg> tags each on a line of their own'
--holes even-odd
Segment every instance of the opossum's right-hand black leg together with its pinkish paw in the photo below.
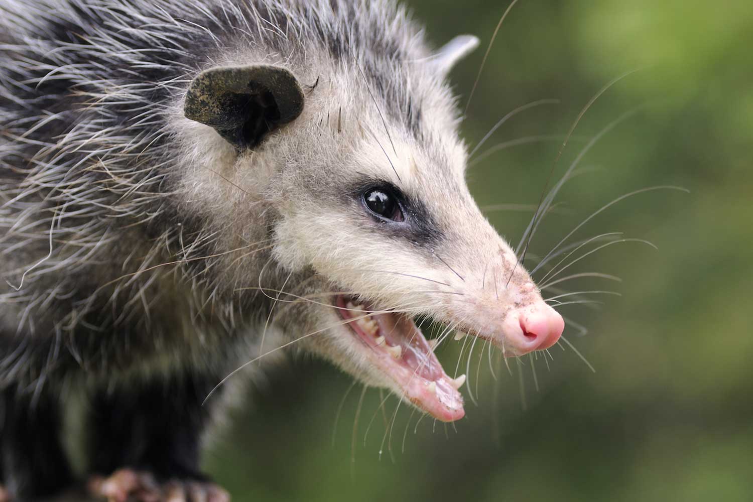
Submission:
<svg viewBox="0 0 753 502">
<path fill-rule="evenodd" d="M 199 471 L 214 399 L 202 402 L 216 381 L 184 374 L 98 392 L 88 427 L 90 488 L 115 502 L 228 500 Z"/>
</svg>

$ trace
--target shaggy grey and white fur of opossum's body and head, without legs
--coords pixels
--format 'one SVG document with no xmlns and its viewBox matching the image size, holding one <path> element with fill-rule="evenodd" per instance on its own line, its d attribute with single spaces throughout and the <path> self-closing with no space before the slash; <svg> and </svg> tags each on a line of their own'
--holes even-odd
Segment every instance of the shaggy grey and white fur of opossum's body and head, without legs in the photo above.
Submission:
<svg viewBox="0 0 753 502">
<path fill-rule="evenodd" d="M 5 0 L 0 14 L 0 387 L 29 406 L 216 382 L 262 333 L 273 348 L 321 332 L 292 346 L 389 385 L 328 328 L 331 309 L 274 306 L 280 290 L 361 292 L 479 334 L 538 295 L 465 187 L 449 65 L 389 0 Z M 306 107 L 260 148 L 237 154 L 183 117 L 200 71 L 261 62 L 290 69 Z M 361 214 L 349 190 L 364 179 L 398 184 L 422 224 L 390 234 Z"/>
</svg>

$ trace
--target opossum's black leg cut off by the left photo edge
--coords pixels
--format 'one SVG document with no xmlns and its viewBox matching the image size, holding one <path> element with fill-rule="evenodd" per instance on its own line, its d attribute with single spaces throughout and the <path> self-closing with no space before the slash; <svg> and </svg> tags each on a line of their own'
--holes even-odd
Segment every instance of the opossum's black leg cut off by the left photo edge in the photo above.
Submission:
<svg viewBox="0 0 753 502">
<path fill-rule="evenodd" d="M 0 391 L 0 500 L 57 494 L 73 478 L 60 443 L 59 403 L 48 388 L 38 394 Z M 5 499 L 3 498 L 5 497 Z"/>
</svg>

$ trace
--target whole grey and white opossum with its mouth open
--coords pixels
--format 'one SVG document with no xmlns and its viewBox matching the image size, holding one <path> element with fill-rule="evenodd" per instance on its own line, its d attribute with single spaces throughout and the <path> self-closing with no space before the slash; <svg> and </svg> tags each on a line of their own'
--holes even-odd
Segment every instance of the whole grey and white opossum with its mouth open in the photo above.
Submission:
<svg viewBox="0 0 753 502">
<path fill-rule="evenodd" d="M 392 0 L 2 0 L 0 29 L 14 500 L 82 474 L 112 500 L 227 500 L 198 467 L 218 382 L 279 348 L 455 421 L 465 376 L 413 318 L 505 356 L 559 339 L 465 183 L 448 73 L 474 36 L 433 50 Z"/>
</svg>

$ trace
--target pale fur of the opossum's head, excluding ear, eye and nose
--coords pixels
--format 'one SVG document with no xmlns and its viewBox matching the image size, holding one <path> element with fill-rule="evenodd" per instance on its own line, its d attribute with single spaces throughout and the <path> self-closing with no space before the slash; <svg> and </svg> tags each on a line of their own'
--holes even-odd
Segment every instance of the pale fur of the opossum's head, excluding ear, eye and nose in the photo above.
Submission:
<svg viewBox="0 0 753 502">
<path fill-rule="evenodd" d="M 370 15 L 388 11 L 377 3 Z M 234 151 L 211 128 L 187 122 L 180 99 L 172 128 L 186 152 L 184 207 L 204 208 L 222 229 L 222 249 L 268 245 L 262 269 L 257 255 L 224 257 L 228 282 L 282 300 L 273 322 L 295 345 L 399 395 L 404 388 L 375 367 L 352 323 L 343 322 L 338 295 L 375 312 L 428 315 L 508 355 L 551 345 L 530 343 L 523 321 L 556 314 L 468 192 L 449 68 L 432 61 L 443 54 L 432 56 L 413 24 L 398 18 L 403 26 L 389 34 L 395 52 L 386 56 L 369 50 L 369 37 L 380 35 L 365 26 L 347 35 L 340 53 L 310 43 L 306 53 L 223 53 L 215 64 L 278 65 L 304 90 L 300 116 L 253 149 Z M 370 187 L 398 193 L 402 221 L 370 214 L 363 199 Z M 276 281 L 266 277 L 270 270 Z"/>
</svg>

